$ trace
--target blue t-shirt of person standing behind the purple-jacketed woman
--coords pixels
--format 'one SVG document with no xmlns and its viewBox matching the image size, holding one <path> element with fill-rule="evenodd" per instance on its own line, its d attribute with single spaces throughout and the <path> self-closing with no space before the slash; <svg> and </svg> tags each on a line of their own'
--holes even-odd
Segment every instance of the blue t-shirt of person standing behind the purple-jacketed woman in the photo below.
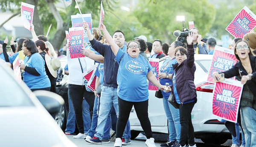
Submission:
<svg viewBox="0 0 256 147">
<path fill-rule="evenodd" d="M 160 68 L 160 72 L 163 72 L 163 73 L 168 73 L 168 74 L 172 74 L 173 73 L 173 67 L 172 67 L 172 64 L 175 64 L 177 63 L 176 61 L 176 58 L 173 58 L 173 59 L 167 59 L 163 62 L 163 65 L 161 66 Z M 164 68 L 165 67 L 165 68 Z M 164 69 L 163 69 L 164 68 Z M 170 77 L 171 75 L 169 75 Z M 169 78 L 160 78 L 160 84 L 161 85 L 165 85 L 166 83 L 169 83 L 169 85 L 172 85 L 172 79 L 169 79 Z M 169 98 L 171 92 L 163 92 L 162 90 L 162 94 L 163 94 L 163 98 Z"/>
</svg>

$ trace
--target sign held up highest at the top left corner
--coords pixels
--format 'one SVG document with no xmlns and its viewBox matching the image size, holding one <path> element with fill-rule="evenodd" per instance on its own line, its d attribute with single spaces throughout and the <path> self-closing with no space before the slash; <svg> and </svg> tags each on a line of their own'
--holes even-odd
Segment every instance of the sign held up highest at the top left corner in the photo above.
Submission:
<svg viewBox="0 0 256 147">
<path fill-rule="evenodd" d="M 24 27 L 29 31 L 31 30 L 31 24 L 33 23 L 34 9 L 34 5 L 21 2 L 21 19 Z"/>
</svg>

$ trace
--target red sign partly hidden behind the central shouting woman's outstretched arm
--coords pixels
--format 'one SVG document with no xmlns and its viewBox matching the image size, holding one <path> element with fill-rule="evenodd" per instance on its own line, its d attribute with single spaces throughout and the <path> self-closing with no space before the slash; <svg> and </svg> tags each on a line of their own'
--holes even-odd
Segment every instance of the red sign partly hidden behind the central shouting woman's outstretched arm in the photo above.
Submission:
<svg viewBox="0 0 256 147">
<path fill-rule="evenodd" d="M 156 76 L 157 80 L 159 80 L 158 78 L 158 74 L 159 74 L 159 59 L 158 58 L 148 58 L 148 61 L 150 63 L 150 65 L 152 66 L 152 72 L 153 74 Z M 154 84 L 152 84 L 150 81 L 148 81 L 148 90 L 158 90 L 157 86 L 154 86 Z"/>
</svg>

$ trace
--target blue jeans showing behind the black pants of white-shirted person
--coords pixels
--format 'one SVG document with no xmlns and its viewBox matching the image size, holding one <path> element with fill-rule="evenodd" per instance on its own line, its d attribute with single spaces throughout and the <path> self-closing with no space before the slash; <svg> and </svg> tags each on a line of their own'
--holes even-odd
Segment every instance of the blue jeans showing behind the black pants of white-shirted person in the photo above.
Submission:
<svg viewBox="0 0 256 147">
<path fill-rule="evenodd" d="M 68 102 L 69 102 L 69 112 L 67 117 L 67 126 L 65 132 L 69 132 L 70 134 L 73 134 L 76 129 L 76 117 L 75 112 L 73 109 L 72 101 L 70 100 L 70 97 L 68 95 Z M 87 133 L 90 129 L 90 111 L 89 111 L 89 104 L 85 99 L 83 100 L 83 120 L 84 120 L 84 133 Z"/>
</svg>

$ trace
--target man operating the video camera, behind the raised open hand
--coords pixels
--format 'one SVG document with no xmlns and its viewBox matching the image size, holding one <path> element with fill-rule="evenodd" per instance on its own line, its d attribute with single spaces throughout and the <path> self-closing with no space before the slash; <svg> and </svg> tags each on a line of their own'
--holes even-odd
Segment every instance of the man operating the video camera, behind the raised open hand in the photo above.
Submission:
<svg viewBox="0 0 256 147">
<path fill-rule="evenodd" d="M 195 54 L 208 54 L 208 48 L 206 43 L 202 42 L 202 35 L 199 35 L 197 28 L 191 28 L 189 31 L 193 32 L 193 47 Z"/>
</svg>

